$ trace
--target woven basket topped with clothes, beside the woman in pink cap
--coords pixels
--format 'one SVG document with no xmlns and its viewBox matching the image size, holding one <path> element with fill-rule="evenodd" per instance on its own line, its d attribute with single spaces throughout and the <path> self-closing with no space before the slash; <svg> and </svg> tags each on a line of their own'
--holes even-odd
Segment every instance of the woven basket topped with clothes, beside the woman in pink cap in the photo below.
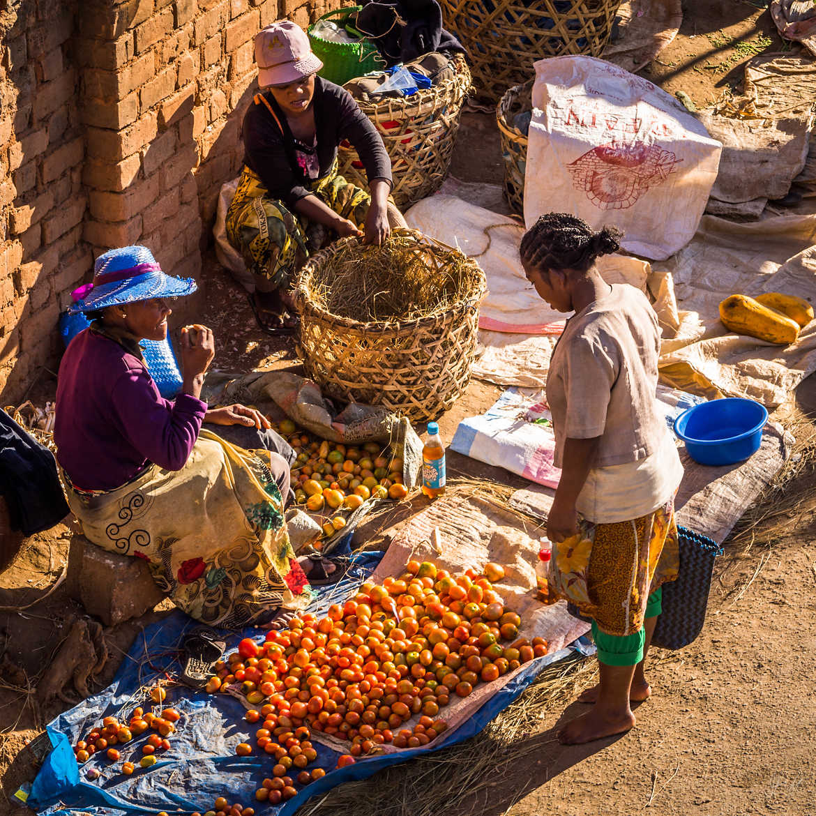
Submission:
<svg viewBox="0 0 816 816">
<path fill-rule="evenodd" d="M 391 157 L 394 182 L 391 194 L 400 208 L 435 193 L 448 175 L 459 132 L 459 114 L 471 86 L 470 71 L 463 57 L 453 61 L 453 77 L 427 90 L 411 96 L 357 102 L 374 122 Z M 367 188 L 366 171 L 352 146 L 339 146 L 338 162 L 340 175 Z"/>
</svg>

